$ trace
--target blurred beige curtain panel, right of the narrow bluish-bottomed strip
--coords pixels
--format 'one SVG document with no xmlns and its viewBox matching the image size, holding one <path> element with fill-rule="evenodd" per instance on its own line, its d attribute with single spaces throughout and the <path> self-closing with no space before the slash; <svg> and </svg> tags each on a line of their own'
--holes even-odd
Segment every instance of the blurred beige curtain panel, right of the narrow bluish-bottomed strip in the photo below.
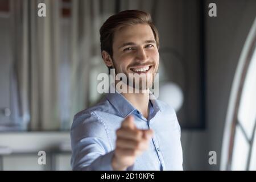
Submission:
<svg viewBox="0 0 256 182">
<path fill-rule="evenodd" d="M 46 3 L 46 17 L 38 4 Z M 29 1 L 31 130 L 57 130 L 59 117 L 60 1 Z"/>
</svg>

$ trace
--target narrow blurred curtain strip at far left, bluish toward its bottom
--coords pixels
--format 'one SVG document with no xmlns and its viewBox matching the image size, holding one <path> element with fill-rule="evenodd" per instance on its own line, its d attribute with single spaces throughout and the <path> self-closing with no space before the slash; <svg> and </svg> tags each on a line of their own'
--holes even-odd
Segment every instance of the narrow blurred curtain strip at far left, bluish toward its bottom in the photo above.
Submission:
<svg viewBox="0 0 256 182">
<path fill-rule="evenodd" d="M 30 121 L 28 86 L 28 7 L 27 1 L 10 1 L 10 123 L 6 130 L 26 130 Z"/>
</svg>

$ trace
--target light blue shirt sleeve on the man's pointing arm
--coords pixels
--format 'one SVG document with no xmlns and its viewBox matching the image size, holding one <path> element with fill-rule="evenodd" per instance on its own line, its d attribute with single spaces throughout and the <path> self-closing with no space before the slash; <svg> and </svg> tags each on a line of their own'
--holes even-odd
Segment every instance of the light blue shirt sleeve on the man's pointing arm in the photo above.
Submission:
<svg viewBox="0 0 256 182">
<path fill-rule="evenodd" d="M 94 113 L 75 115 L 71 127 L 73 170 L 112 171 L 113 147 L 106 126 Z M 127 170 L 133 169 L 133 166 Z"/>
</svg>

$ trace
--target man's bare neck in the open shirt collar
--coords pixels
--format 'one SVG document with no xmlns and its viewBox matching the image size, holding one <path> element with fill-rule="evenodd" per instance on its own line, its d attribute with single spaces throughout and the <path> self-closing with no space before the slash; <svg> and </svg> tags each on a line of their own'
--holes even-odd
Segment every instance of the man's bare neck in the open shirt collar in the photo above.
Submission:
<svg viewBox="0 0 256 182">
<path fill-rule="evenodd" d="M 123 97 L 126 98 L 131 104 L 142 113 L 144 118 L 148 118 L 148 102 L 149 93 L 122 93 Z"/>
</svg>

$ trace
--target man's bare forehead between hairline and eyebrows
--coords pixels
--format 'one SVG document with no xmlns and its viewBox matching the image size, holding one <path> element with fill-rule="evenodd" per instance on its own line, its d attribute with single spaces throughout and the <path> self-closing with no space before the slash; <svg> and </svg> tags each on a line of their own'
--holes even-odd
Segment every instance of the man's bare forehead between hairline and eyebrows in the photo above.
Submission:
<svg viewBox="0 0 256 182">
<path fill-rule="evenodd" d="M 154 40 L 154 33 L 148 24 L 136 24 L 120 28 L 114 33 L 113 46 L 118 46 L 126 42 L 144 42 L 144 40 Z"/>
</svg>

